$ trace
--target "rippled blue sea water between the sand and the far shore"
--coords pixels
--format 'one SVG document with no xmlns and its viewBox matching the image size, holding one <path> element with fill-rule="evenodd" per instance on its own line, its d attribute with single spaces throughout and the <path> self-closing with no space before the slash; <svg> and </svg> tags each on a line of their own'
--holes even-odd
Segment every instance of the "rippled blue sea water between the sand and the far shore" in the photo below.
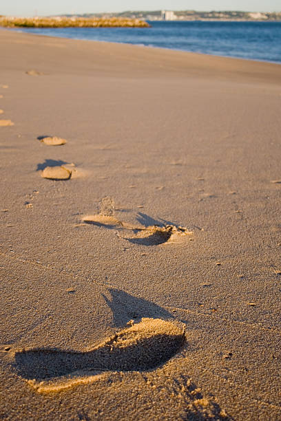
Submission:
<svg viewBox="0 0 281 421">
<path fill-rule="evenodd" d="M 50 36 L 281 63 L 281 22 L 152 21 L 152 28 L 28 28 Z"/>
</svg>

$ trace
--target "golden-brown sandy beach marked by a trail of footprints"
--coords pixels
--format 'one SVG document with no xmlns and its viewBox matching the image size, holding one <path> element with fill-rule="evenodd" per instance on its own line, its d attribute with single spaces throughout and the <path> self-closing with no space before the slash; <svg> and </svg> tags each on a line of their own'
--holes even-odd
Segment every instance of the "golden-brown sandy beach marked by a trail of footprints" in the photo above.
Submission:
<svg viewBox="0 0 281 421">
<path fill-rule="evenodd" d="M 280 420 L 281 66 L 0 56 L 0 419 Z"/>
</svg>

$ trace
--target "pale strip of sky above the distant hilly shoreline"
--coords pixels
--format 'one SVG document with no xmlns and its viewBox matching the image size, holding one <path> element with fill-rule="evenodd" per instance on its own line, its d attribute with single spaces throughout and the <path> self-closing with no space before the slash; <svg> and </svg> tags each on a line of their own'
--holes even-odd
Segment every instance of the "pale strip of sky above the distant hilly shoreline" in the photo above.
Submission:
<svg viewBox="0 0 281 421">
<path fill-rule="evenodd" d="M 280 12 L 281 0 L 0 0 L 0 14 L 24 16 L 159 9 Z"/>
</svg>

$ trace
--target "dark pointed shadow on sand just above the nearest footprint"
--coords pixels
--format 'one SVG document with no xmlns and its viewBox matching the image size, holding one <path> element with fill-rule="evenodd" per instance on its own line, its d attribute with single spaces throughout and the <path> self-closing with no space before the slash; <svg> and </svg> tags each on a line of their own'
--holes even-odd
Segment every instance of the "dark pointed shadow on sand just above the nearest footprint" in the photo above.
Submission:
<svg viewBox="0 0 281 421">
<path fill-rule="evenodd" d="M 152 301 L 138 298 L 117 288 L 110 288 L 111 299 L 103 294 L 107 305 L 110 307 L 114 317 L 114 326 L 125 326 L 128 321 L 140 321 L 143 317 L 154 319 L 174 319 L 174 316 Z"/>
</svg>

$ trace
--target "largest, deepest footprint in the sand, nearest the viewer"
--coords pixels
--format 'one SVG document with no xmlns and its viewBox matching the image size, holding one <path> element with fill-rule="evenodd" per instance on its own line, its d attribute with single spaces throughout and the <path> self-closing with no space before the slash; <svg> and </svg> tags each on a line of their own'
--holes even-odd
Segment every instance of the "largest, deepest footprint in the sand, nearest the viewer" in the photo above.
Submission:
<svg viewBox="0 0 281 421">
<path fill-rule="evenodd" d="M 185 341 L 183 325 L 144 318 L 86 352 L 44 348 L 16 352 L 14 367 L 22 378 L 33 380 L 30 385 L 39 393 L 48 393 L 71 387 L 75 378 L 93 381 L 95 372 L 156 369 L 176 355 Z"/>
</svg>

